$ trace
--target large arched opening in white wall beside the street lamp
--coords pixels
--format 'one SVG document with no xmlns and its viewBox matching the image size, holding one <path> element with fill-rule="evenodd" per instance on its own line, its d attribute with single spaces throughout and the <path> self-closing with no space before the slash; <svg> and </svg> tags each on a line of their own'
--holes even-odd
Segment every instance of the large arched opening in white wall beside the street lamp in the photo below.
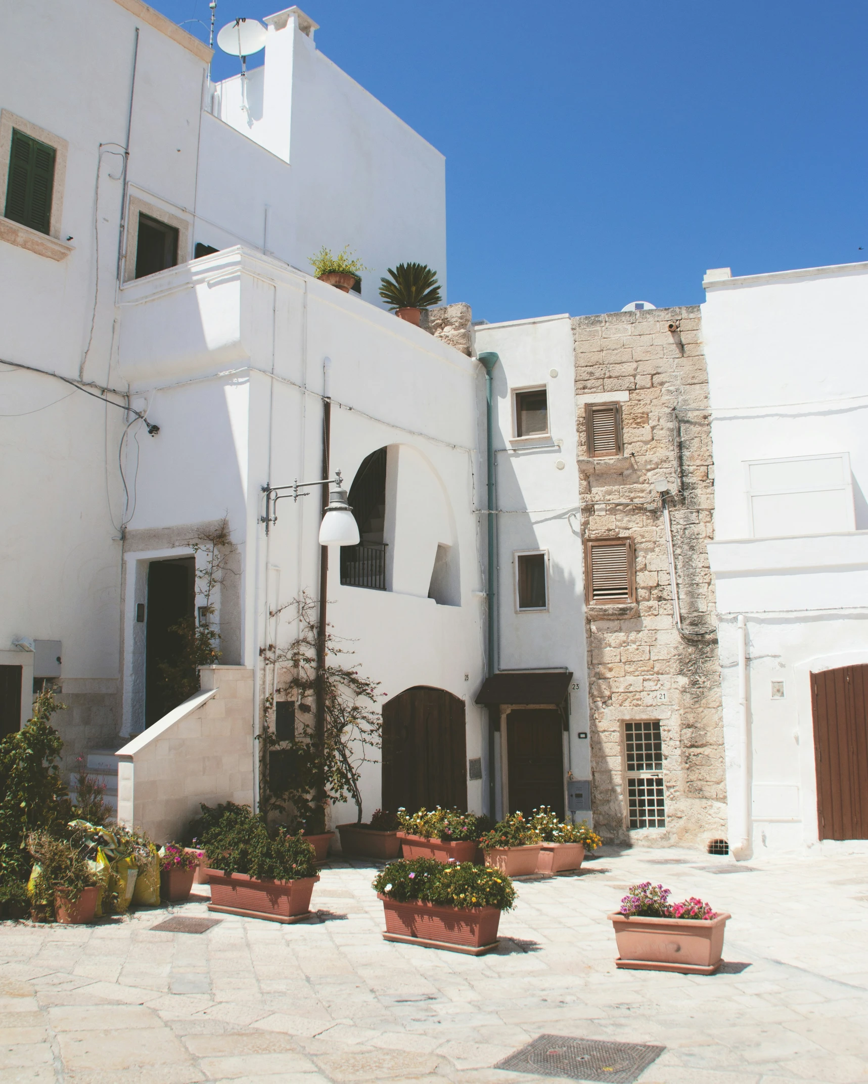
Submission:
<svg viewBox="0 0 868 1084">
<path fill-rule="evenodd" d="M 341 550 L 344 586 L 395 591 L 461 605 L 455 516 L 431 461 L 410 444 L 367 455 L 349 488 L 359 544 Z"/>
</svg>

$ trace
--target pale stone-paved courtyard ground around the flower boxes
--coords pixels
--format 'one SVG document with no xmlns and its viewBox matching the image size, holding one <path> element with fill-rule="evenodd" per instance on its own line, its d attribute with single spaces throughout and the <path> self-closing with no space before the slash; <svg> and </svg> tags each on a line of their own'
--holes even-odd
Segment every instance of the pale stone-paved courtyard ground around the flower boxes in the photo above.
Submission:
<svg viewBox="0 0 868 1084">
<path fill-rule="evenodd" d="M 297 926 L 0 924 L 0 1080 L 550 1081 L 493 1067 L 554 1034 L 664 1046 L 642 1084 L 868 1082 L 868 856 L 604 853 L 521 882 L 478 958 L 383 941 L 372 875 L 326 867 Z M 644 879 L 732 913 L 723 973 L 615 968 L 605 916 Z M 204 895 L 170 911 L 205 915 Z"/>
</svg>

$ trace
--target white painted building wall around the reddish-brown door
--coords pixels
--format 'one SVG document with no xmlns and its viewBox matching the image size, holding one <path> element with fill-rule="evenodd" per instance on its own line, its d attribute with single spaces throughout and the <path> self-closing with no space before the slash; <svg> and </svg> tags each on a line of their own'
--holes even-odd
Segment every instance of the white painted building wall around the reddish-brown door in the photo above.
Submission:
<svg viewBox="0 0 868 1084">
<path fill-rule="evenodd" d="M 704 285 L 730 843 L 746 831 L 745 853 L 799 850 L 818 840 L 809 674 L 868 662 L 868 263 Z M 780 491 L 774 515 L 752 515 L 746 465 L 757 461 L 774 461 L 764 474 Z M 824 481 L 832 461 L 841 486 Z M 773 699 L 773 682 L 783 683 L 782 698 Z"/>
</svg>

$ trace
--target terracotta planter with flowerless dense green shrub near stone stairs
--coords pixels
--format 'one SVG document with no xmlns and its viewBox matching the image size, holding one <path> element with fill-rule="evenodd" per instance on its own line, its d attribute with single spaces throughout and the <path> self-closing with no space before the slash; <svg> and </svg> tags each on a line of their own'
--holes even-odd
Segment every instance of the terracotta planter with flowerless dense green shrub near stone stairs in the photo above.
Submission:
<svg viewBox="0 0 868 1084">
<path fill-rule="evenodd" d="M 273 922 L 310 917 L 319 880 L 314 848 L 304 836 L 269 828 L 247 805 L 202 806 L 209 826 L 201 837 L 208 857 L 209 911 Z"/>
</svg>

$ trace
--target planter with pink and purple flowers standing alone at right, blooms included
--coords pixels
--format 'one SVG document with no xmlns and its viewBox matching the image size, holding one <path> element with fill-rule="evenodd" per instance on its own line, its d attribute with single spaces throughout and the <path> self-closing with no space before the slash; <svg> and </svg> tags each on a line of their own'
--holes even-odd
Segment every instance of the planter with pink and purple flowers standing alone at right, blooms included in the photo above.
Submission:
<svg viewBox="0 0 868 1084">
<path fill-rule="evenodd" d="M 662 885 L 633 885 L 609 918 L 615 930 L 617 967 L 712 975 L 720 966 L 724 929 L 731 916 L 695 896 L 669 903 Z"/>
</svg>

